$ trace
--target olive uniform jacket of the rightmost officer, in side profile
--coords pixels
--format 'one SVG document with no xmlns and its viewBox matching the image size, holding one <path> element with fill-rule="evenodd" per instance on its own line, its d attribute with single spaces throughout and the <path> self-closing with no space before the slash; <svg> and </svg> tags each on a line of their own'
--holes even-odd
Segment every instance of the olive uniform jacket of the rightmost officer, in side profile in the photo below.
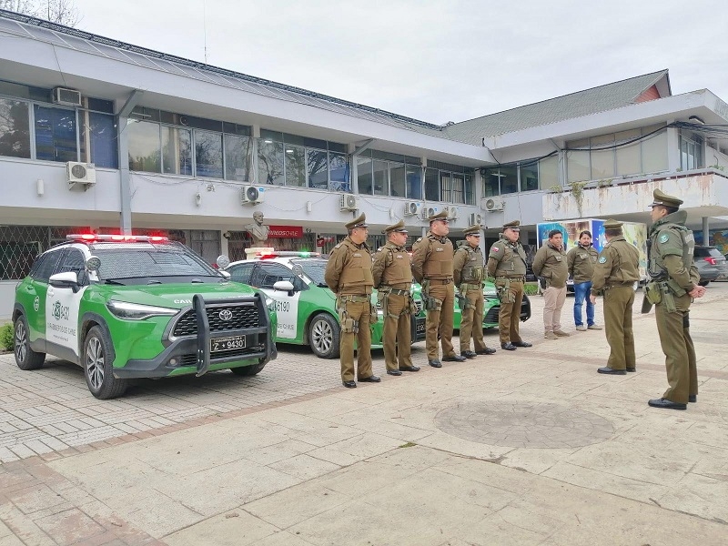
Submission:
<svg viewBox="0 0 728 546">
<path fill-rule="evenodd" d="M 700 280 L 693 262 L 693 232 L 685 227 L 688 213 L 678 210 L 662 217 L 650 229 L 650 278 L 672 278 L 690 292 Z"/>
</svg>

